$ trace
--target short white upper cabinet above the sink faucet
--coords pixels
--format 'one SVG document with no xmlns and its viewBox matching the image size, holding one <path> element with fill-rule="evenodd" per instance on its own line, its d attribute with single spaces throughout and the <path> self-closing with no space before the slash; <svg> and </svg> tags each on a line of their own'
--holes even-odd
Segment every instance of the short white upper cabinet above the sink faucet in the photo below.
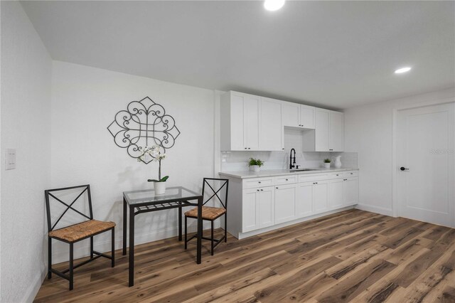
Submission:
<svg viewBox="0 0 455 303">
<path fill-rule="evenodd" d="M 314 129 L 315 107 L 282 101 L 283 126 Z"/>
</svg>

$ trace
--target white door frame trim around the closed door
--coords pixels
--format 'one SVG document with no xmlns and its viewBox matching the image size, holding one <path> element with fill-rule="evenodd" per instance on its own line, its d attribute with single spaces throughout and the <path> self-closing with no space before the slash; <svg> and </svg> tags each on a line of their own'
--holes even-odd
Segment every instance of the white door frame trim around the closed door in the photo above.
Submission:
<svg viewBox="0 0 455 303">
<path fill-rule="evenodd" d="M 428 107 L 432 105 L 444 105 L 449 103 L 455 103 L 455 97 L 448 99 L 442 99 L 437 101 L 424 101 L 412 105 L 400 105 L 392 110 L 392 213 L 394 217 L 400 216 L 398 206 L 398 112 L 400 110 L 412 110 L 419 107 Z M 455 132 L 455 126 L 454 126 Z M 455 157 L 455 154 L 454 154 Z M 455 193 L 455 188 L 454 188 Z M 454 214 L 455 216 L 455 214 Z M 452 224 L 455 224 L 452 223 Z"/>
</svg>

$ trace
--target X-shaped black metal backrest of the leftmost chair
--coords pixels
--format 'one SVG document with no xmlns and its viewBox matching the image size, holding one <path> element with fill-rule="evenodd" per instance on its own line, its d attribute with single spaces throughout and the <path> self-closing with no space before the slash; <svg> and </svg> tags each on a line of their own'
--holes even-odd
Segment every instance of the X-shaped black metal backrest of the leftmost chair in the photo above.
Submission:
<svg viewBox="0 0 455 303">
<path fill-rule="evenodd" d="M 62 198 L 58 197 L 58 193 L 65 193 L 69 191 L 77 191 L 77 189 L 80 189 L 80 193 L 77 194 L 76 198 L 73 199 L 72 202 L 68 203 L 63 201 Z M 78 211 L 73 207 L 74 203 L 81 198 L 81 196 L 87 192 L 87 198 L 88 198 L 88 208 L 89 208 L 89 215 L 86 215 L 85 213 L 82 213 L 81 211 Z M 80 185 L 80 186 L 71 186 L 71 187 L 63 187 L 63 188 L 55 188 L 55 189 L 47 189 L 44 191 L 44 196 L 45 196 L 45 208 L 46 208 L 46 214 L 48 216 L 48 231 L 51 231 L 57 226 L 58 222 L 65 216 L 65 214 L 71 209 L 72 211 L 75 211 L 75 213 L 78 213 L 80 216 L 87 218 L 89 220 L 93 220 L 93 211 L 92 211 L 92 197 L 90 196 L 90 185 Z M 65 206 L 65 211 L 60 214 L 60 216 L 55 220 L 55 222 L 51 222 L 51 214 L 50 214 L 50 201 L 56 201 L 63 206 Z M 80 223 L 80 222 L 79 222 Z"/>
</svg>

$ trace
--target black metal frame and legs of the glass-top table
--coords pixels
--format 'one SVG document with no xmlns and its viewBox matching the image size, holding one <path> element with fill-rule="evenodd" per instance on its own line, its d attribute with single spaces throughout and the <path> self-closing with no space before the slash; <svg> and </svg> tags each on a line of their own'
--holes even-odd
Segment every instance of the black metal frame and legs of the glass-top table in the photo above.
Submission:
<svg viewBox="0 0 455 303">
<path fill-rule="evenodd" d="M 182 189 L 193 193 L 182 186 L 176 186 L 168 188 L 179 191 Z M 164 211 L 165 209 L 178 208 L 178 240 L 182 240 L 182 208 L 185 206 L 197 206 L 198 207 L 198 232 L 197 232 L 197 254 L 196 262 L 201 262 L 201 250 L 202 250 L 202 231 L 203 231 L 203 220 L 202 220 L 202 206 L 203 196 L 195 193 L 194 196 L 188 196 L 184 198 L 166 198 L 161 201 L 144 201 L 141 203 L 134 203 L 129 205 L 127 198 L 123 193 L 123 255 L 127 255 L 127 210 L 129 208 L 129 283 L 128 286 L 134 286 L 134 216 L 139 213 L 150 213 L 153 211 Z M 189 201 L 197 200 L 197 203 L 191 203 Z"/>
</svg>

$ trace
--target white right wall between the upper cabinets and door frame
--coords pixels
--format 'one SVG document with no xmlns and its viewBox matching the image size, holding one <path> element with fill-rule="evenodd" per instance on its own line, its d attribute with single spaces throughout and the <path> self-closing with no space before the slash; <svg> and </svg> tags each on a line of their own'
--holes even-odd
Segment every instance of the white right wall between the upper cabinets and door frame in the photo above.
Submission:
<svg viewBox="0 0 455 303">
<path fill-rule="evenodd" d="M 366 211 L 393 216 L 393 111 L 422 102 L 453 100 L 455 89 L 440 90 L 344 111 L 345 151 L 358 151 L 359 205 Z"/>
</svg>

